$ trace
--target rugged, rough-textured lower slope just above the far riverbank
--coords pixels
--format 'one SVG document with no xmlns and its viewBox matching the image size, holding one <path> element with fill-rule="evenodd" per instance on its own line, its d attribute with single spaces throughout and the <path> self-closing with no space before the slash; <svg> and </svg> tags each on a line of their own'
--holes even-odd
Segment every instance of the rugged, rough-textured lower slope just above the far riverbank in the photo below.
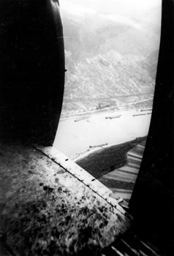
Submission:
<svg viewBox="0 0 174 256">
<path fill-rule="evenodd" d="M 67 69 L 72 64 L 69 59 L 67 57 Z M 151 64 L 140 59 L 140 56 L 124 58 L 110 50 L 78 61 L 67 72 L 64 110 L 86 111 L 153 97 L 156 61 L 153 72 Z"/>
</svg>

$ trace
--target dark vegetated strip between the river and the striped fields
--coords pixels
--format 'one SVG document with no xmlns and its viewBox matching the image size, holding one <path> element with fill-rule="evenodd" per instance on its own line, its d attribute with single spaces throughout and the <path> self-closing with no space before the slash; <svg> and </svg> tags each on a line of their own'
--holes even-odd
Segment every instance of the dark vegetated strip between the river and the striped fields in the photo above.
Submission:
<svg viewBox="0 0 174 256">
<path fill-rule="evenodd" d="M 135 140 L 120 145 L 99 149 L 99 151 L 91 153 L 88 157 L 77 161 L 77 165 L 83 167 L 95 178 L 100 178 L 106 173 L 126 165 L 127 151 L 134 148 L 137 143 L 141 143 L 145 139 L 146 137 L 136 138 Z"/>
</svg>

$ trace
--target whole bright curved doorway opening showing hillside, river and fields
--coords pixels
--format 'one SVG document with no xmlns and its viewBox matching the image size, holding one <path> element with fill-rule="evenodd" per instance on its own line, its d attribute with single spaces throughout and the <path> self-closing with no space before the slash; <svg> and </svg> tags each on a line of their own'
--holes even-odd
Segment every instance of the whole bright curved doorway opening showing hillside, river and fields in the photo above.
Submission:
<svg viewBox="0 0 174 256">
<path fill-rule="evenodd" d="M 67 72 L 53 146 L 129 201 L 151 121 L 162 2 L 60 5 Z"/>
</svg>

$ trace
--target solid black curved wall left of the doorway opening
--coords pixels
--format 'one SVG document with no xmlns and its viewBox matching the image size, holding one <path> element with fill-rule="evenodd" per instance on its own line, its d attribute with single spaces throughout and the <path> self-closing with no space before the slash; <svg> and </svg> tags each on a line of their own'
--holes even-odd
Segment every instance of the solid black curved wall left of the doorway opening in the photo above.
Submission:
<svg viewBox="0 0 174 256">
<path fill-rule="evenodd" d="M 47 133 L 52 142 L 63 93 L 64 37 L 58 0 L 1 0 L 1 134 L 38 139 Z"/>
</svg>

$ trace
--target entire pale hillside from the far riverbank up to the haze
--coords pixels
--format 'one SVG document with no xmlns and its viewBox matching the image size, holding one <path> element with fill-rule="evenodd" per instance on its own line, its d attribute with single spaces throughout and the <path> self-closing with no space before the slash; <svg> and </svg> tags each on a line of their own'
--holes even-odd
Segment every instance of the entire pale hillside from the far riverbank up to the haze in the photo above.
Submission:
<svg viewBox="0 0 174 256">
<path fill-rule="evenodd" d="M 95 3 L 96 9 L 91 1 L 62 3 L 67 69 L 63 114 L 153 97 L 159 8 L 131 15 L 119 4 L 111 12 Z"/>
</svg>

